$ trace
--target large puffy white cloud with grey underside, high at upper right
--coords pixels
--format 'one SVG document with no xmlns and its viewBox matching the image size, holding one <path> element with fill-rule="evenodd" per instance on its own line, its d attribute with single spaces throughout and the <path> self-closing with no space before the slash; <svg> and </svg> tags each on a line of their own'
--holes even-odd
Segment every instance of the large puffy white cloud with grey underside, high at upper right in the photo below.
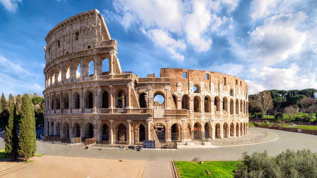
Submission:
<svg viewBox="0 0 317 178">
<path fill-rule="evenodd" d="M 302 11 L 280 14 L 264 20 L 263 25 L 249 32 L 250 54 L 262 65 L 272 65 L 301 51 L 306 32 L 297 28 L 307 18 Z"/>
</svg>

